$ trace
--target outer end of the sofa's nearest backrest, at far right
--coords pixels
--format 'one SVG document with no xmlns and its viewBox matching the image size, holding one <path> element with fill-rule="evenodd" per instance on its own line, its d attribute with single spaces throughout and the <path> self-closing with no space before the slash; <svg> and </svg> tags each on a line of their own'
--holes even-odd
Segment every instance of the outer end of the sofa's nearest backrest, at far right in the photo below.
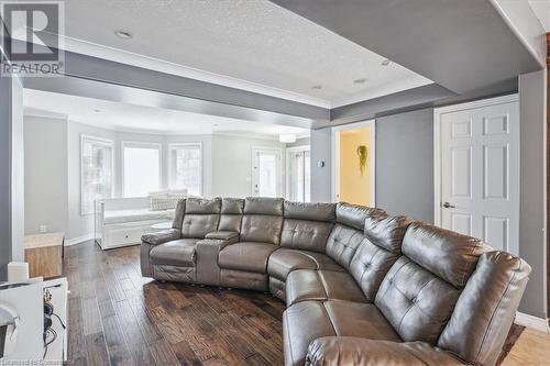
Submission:
<svg viewBox="0 0 550 366">
<path fill-rule="evenodd" d="M 503 350 L 531 267 L 506 252 L 483 253 L 438 346 L 473 365 L 494 365 Z"/>
</svg>

